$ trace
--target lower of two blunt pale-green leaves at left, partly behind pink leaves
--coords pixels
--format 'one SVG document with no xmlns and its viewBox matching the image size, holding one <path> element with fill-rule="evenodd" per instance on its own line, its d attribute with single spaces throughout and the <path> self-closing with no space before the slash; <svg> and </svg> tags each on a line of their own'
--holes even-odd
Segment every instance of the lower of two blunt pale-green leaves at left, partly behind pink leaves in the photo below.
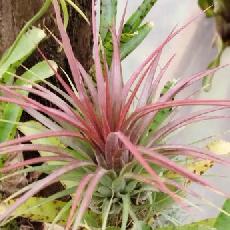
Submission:
<svg viewBox="0 0 230 230">
<path fill-rule="evenodd" d="M 56 70 L 57 65 L 53 61 L 49 61 L 50 65 Z M 32 82 L 43 81 L 44 79 L 52 76 L 54 71 L 50 68 L 46 61 L 39 62 L 34 65 L 30 70 L 26 71 L 21 77 L 25 80 Z M 31 83 L 18 79 L 15 83 L 19 86 L 31 87 Z M 24 96 L 27 96 L 27 92 L 20 91 Z M 16 125 L 15 122 L 20 120 L 22 114 L 22 108 L 18 105 L 6 103 L 3 106 L 3 114 L 1 119 L 9 122 L 0 122 L 0 142 L 9 140 L 15 134 Z"/>
</svg>

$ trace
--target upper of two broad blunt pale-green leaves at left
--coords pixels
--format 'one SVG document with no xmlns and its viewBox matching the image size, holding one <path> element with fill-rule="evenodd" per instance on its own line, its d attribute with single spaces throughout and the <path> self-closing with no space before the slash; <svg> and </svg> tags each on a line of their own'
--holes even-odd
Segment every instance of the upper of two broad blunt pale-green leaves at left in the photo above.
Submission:
<svg viewBox="0 0 230 230">
<path fill-rule="evenodd" d="M 17 67 L 46 37 L 43 30 L 33 27 L 21 36 L 8 58 L 0 65 L 0 79 L 12 66 Z"/>
</svg>

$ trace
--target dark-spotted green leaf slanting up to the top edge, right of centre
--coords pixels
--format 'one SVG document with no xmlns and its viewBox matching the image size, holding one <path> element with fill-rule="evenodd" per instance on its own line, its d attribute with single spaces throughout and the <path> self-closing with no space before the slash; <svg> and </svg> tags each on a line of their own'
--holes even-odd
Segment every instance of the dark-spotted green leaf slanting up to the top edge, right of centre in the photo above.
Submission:
<svg viewBox="0 0 230 230">
<path fill-rule="evenodd" d="M 124 25 L 123 33 L 134 33 L 157 0 L 144 0 Z"/>
</svg>

